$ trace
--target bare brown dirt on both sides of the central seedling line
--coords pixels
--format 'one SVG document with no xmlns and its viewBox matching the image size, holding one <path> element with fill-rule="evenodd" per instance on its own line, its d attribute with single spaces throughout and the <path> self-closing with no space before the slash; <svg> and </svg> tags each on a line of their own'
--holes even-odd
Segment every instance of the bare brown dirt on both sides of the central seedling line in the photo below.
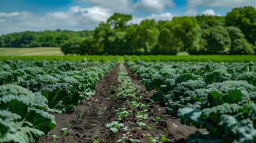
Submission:
<svg viewBox="0 0 256 143">
<path fill-rule="evenodd" d="M 111 97 L 111 95 L 116 94 L 115 87 L 118 86 L 116 81 L 118 69 L 119 66 L 116 66 L 101 82 L 98 82 L 95 95 L 76 106 L 75 112 L 71 114 L 54 114 L 57 126 L 49 135 L 42 136 L 38 142 L 93 142 L 97 138 L 100 139 L 100 142 L 117 142 L 122 136 L 139 139 L 141 142 L 150 142 L 147 139 L 149 136 L 160 135 L 166 135 L 170 142 L 185 142 L 190 133 L 199 130 L 195 127 L 181 125 L 179 119 L 165 114 L 165 107 L 161 107 L 154 102 L 148 108 L 148 110 L 152 111 L 149 114 L 149 120 L 144 122 L 150 125 L 152 129 L 138 128 L 135 119 L 137 110 L 133 111 L 131 116 L 122 120 L 122 123 L 128 126 L 131 131 L 125 133 L 120 130 L 120 132 L 115 134 L 105 128 L 104 125 L 106 123 L 118 120 L 114 110 L 121 107 L 120 103 L 125 101 L 125 99 L 113 100 Z M 150 102 L 150 96 L 154 91 L 146 91 L 144 85 L 140 83 L 140 78 L 132 74 L 130 70 L 127 69 L 127 71 L 132 81 L 140 86 L 138 90 L 145 97 L 141 102 Z M 82 114 L 81 120 L 78 119 L 78 114 Z M 161 118 L 158 124 L 153 123 L 153 117 L 156 116 Z M 67 136 L 61 133 L 62 128 L 70 129 Z M 59 139 L 53 141 L 53 135 L 57 135 Z"/>
</svg>

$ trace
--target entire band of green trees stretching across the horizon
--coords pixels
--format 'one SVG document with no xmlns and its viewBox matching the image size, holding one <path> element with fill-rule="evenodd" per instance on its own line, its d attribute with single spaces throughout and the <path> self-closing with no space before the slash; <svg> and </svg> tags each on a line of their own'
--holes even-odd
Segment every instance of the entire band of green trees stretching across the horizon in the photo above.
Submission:
<svg viewBox="0 0 256 143">
<path fill-rule="evenodd" d="M 61 46 L 64 54 L 175 55 L 254 54 L 256 10 L 234 8 L 226 16 L 174 17 L 171 21 L 143 20 L 132 24 L 132 15 L 115 13 L 93 31 L 56 30 L 3 35 L 0 46 Z"/>
</svg>

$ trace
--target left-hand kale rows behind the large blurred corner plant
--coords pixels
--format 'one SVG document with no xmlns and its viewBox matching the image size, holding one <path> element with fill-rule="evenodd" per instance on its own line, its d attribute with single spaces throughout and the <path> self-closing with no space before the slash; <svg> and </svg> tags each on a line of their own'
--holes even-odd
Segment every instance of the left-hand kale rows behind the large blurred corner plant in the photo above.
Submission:
<svg viewBox="0 0 256 143">
<path fill-rule="evenodd" d="M 35 102 L 44 100 L 45 104 L 48 105 L 46 105 L 47 107 L 63 111 L 65 109 L 66 111 L 73 110 L 73 106 L 78 105 L 79 101 L 94 94 L 97 81 L 103 79 L 104 75 L 115 66 L 115 61 L 103 64 L 90 61 L 7 60 L 4 63 L 10 64 L 14 70 L 9 68 L 6 69 L 8 72 L 0 71 L 0 73 L 3 73 L 0 76 L 3 81 L 1 84 L 13 83 L 34 93 L 39 92 L 39 97 L 43 95 L 44 98 L 38 97 Z M 88 66 L 92 67 L 85 69 Z M 20 96 L 26 93 L 26 91 L 16 89 L 16 86 L 12 88 L 19 90 Z M 2 89 L 1 92 L 9 91 Z M 13 94 L 15 95 L 17 92 Z M 31 100 L 34 101 L 35 99 Z M 15 100 L 15 102 L 20 102 L 20 99 Z M 12 105 L 18 105 L 14 104 L 14 101 L 11 103 Z M 39 105 L 43 106 L 45 104 L 41 103 Z M 70 105 L 71 107 L 69 107 Z M 24 107 L 26 107 L 26 104 Z"/>
</svg>

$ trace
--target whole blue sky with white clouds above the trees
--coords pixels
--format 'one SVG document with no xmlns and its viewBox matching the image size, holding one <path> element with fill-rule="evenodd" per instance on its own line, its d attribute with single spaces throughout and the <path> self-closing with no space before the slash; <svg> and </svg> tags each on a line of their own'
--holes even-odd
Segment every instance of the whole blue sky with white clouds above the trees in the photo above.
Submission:
<svg viewBox="0 0 256 143">
<path fill-rule="evenodd" d="M 0 0 L 0 35 L 44 30 L 94 30 L 113 13 L 131 14 L 131 23 L 172 20 L 183 15 L 226 15 L 256 0 Z"/>
</svg>

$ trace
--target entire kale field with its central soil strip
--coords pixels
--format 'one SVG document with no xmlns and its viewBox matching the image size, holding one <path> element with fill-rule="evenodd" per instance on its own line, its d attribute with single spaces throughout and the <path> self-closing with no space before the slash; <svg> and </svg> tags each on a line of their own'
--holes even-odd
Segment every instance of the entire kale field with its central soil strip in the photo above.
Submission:
<svg viewBox="0 0 256 143">
<path fill-rule="evenodd" d="M 255 57 L 163 57 L 2 58 L 0 142 L 256 142 Z"/>
</svg>

